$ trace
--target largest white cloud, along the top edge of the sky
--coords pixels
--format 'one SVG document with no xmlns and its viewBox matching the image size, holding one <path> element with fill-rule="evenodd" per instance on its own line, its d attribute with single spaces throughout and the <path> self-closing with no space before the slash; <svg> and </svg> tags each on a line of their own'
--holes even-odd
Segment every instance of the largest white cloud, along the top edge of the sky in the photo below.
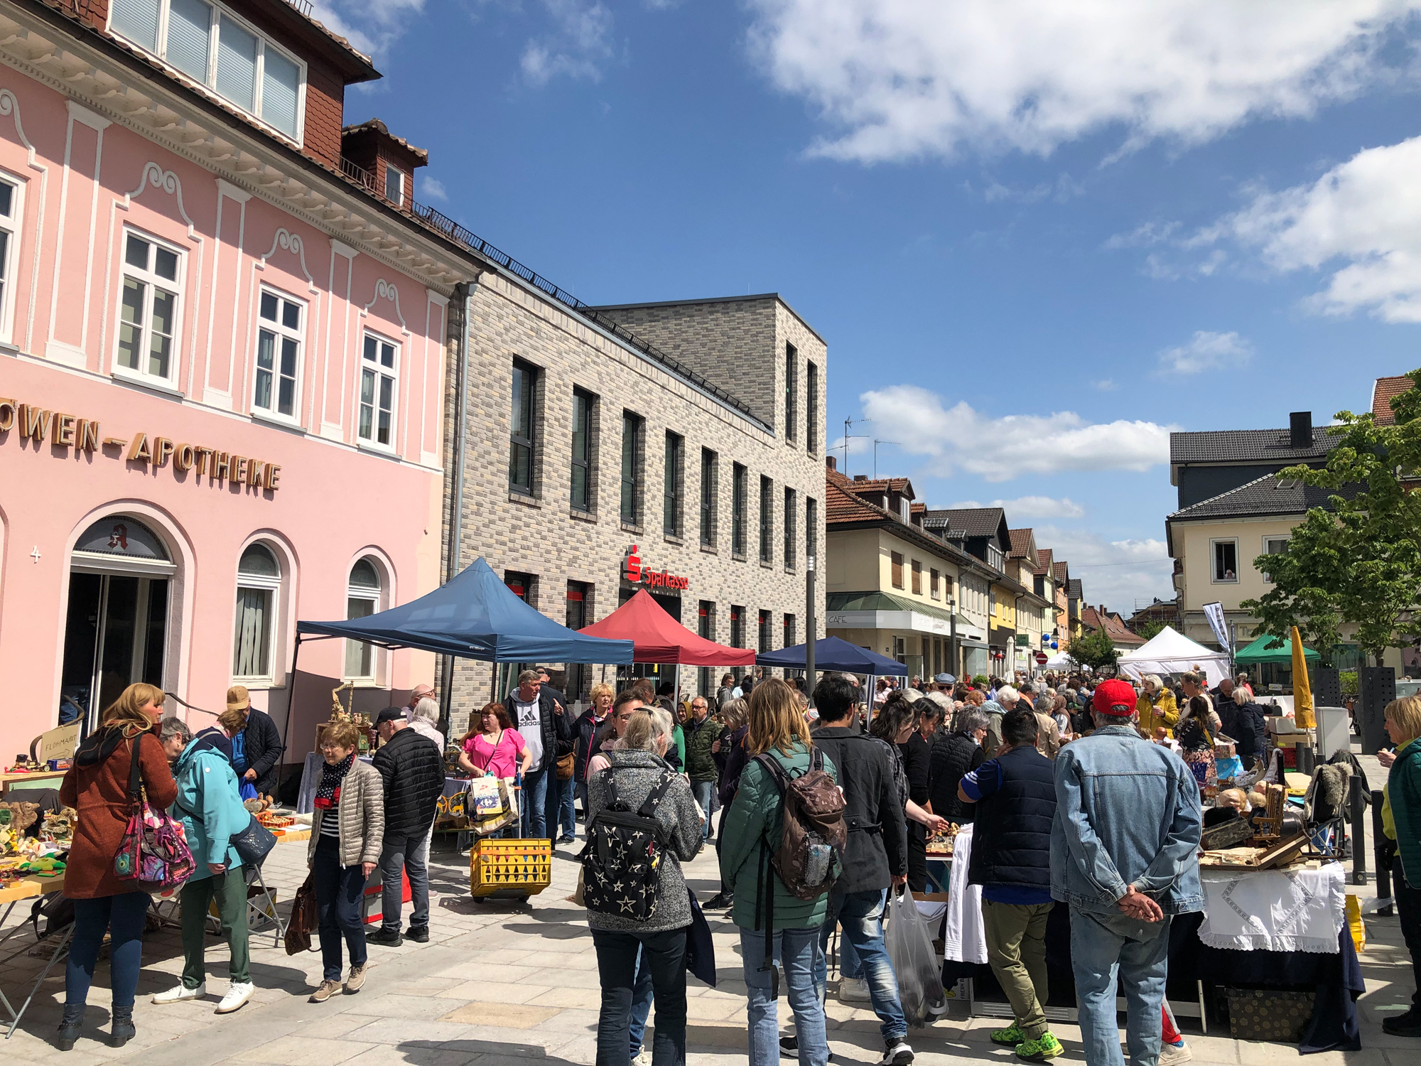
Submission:
<svg viewBox="0 0 1421 1066">
<path fill-rule="evenodd" d="M 1046 155 L 1103 129 L 1125 149 L 1297 117 L 1390 75 L 1421 0 L 752 0 L 750 47 L 860 162 Z"/>
</svg>

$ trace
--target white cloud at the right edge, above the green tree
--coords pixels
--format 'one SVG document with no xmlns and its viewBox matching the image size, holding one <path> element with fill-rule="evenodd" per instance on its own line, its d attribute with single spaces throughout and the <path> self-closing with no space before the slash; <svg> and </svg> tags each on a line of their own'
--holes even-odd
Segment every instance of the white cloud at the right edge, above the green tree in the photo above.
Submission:
<svg viewBox="0 0 1421 1066">
<path fill-rule="evenodd" d="M 1421 323 L 1421 136 L 1368 148 L 1312 185 L 1260 193 L 1198 243 L 1233 237 L 1279 271 L 1331 271 L 1312 310 Z"/>
</svg>

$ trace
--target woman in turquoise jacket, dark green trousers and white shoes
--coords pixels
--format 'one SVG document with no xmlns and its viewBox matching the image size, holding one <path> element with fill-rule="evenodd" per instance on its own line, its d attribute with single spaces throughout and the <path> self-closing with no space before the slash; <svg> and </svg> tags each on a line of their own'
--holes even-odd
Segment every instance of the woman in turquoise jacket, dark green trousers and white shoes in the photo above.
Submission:
<svg viewBox="0 0 1421 1066">
<path fill-rule="evenodd" d="M 242 806 L 230 741 L 222 732 L 210 729 L 193 739 L 186 725 L 176 718 L 165 718 L 159 736 L 168 758 L 173 759 L 173 779 L 178 782 L 178 799 L 168 813 L 182 822 L 198 868 L 179 894 L 182 984 L 159 992 L 153 1002 L 180 1003 L 207 995 L 203 937 L 207 907 L 216 900 L 222 935 L 232 948 L 232 984 L 217 1005 L 217 1013 L 230 1013 L 256 991 L 247 951 L 247 881 L 242 858 L 232 847 L 232 834 L 250 824 L 252 813 Z"/>
</svg>

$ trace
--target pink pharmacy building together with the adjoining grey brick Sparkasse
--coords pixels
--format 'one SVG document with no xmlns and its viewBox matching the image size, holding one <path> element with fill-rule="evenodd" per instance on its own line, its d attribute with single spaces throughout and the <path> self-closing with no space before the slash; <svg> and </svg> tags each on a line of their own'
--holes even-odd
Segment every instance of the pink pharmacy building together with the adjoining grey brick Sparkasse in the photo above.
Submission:
<svg viewBox="0 0 1421 1066">
<path fill-rule="evenodd" d="M 347 682 L 465 715 L 486 665 L 291 655 L 479 556 L 570 625 L 638 556 L 688 627 L 804 640 L 823 338 L 583 304 L 414 200 L 426 152 L 344 122 L 378 77 L 308 0 L 0 0 L 0 748 L 134 681 L 200 725 L 247 687 L 291 762 Z"/>
</svg>

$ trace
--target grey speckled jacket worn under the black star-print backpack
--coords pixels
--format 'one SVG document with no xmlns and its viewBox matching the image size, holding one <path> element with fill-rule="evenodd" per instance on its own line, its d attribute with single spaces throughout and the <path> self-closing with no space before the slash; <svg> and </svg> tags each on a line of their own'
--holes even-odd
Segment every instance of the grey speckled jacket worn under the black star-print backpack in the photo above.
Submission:
<svg viewBox="0 0 1421 1066">
<path fill-rule="evenodd" d="M 611 766 L 598 770 L 587 782 L 587 824 L 593 824 L 597 812 L 607 806 L 607 779 L 617 779 L 617 796 L 630 809 L 637 810 L 647 802 L 662 775 L 671 772 L 665 759 L 651 752 L 601 750 Z M 587 924 L 594 930 L 612 932 L 655 932 L 679 930 L 691 924 L 691 895 L 681 864 L 689 863 L 701 850 L 701 812 L 691 795 L 691 783 L 681 775 L 675 776 L 666 795 L 657 804 L 657 822 L 662 827 L 661 888 L 657 897 L 657 911 L 648 921 L 631 921 L 600 911 L 587 912 Z"/>
</svg>

